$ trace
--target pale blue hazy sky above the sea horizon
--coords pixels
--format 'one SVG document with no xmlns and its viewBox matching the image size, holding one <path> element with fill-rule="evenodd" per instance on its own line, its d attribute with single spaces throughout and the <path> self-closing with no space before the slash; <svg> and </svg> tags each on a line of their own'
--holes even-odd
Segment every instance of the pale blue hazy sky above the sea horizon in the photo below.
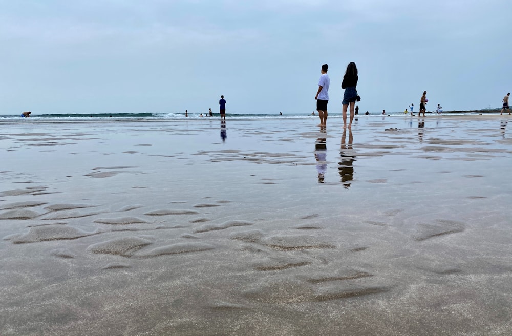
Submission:
<svg viewBox="0 0 512 336">
<path fill-rule="evenodd" d="M 501 107 L 509 0 L 0 0 L 0 114 Z"/>
</svg>

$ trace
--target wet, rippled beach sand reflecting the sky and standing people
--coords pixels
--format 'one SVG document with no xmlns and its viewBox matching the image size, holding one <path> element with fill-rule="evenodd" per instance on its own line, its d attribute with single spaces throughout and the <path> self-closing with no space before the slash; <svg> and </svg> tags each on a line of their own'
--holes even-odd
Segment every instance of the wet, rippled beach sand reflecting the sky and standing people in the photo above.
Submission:
<svg viewBox="0 0 512 336">
<path fill-rule="evenodd" d="M 0 334 L 508 335 L 507 120 L 3 125 Z"/>
</svg>

